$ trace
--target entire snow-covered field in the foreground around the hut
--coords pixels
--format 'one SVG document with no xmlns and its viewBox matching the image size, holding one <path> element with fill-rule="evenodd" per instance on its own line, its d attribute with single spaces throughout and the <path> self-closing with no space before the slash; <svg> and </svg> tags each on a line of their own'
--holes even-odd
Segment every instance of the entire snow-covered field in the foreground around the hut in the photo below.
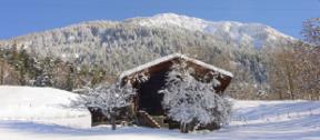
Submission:
<svg viewBox="0 0 320 140">
<path fill-rule="evenodd" d="M 77 94 L 51 88 L 0 86 L 2 140 L 319 140 L 320 102 L 234 101 L 229 126 L 213 132 L 109 126 L 90 128 L 87 110 L 66 108 Z"/>
</svg>

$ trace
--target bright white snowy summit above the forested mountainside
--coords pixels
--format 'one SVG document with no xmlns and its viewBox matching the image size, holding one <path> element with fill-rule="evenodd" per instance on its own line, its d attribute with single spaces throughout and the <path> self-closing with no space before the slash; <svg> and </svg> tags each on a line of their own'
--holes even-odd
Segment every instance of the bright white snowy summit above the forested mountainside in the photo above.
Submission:
<svg viewBox="0 0 320 140">
<path fill-rule="evenodd" d="M 176 13 L 161 13 L 153 17 L 128 19 L 126 21 L 144 27 L 179 27 L 192 31 L 207 32 L 223 40 L 241 44 L 253 44 L 258 48 L 273 42 L 294 40 L 294 38 L 261 23 L 241 23 L 237 21 L 213 22 Z"/>
</svg>

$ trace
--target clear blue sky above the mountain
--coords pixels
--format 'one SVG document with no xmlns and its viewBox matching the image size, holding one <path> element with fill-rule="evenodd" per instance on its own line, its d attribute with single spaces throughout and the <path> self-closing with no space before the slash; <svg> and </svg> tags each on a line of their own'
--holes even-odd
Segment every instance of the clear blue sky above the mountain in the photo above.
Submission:
<svg viewBox="0 0 320 140">
<path fill-rule="evenodd" d="M 296 38 L 320 0 L 0 0 L 0 39 L 89 20 L 174 12 L 211 21 L 260 22 Z"/>
</svg>

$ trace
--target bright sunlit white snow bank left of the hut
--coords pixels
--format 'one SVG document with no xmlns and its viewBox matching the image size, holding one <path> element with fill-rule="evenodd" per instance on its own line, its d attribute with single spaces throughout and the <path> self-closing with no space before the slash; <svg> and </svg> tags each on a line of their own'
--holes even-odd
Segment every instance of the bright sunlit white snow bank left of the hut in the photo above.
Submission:
<svg viewBox="0 0 320 140">
<path fill-rule="evenodd" d="M 90 126 L 90 112 L 68 108 L 77 94 L 51 88 L 0 86 L 0 120 Z M 77 118 L 74 120 L 74 118 Z"/>
</svg>

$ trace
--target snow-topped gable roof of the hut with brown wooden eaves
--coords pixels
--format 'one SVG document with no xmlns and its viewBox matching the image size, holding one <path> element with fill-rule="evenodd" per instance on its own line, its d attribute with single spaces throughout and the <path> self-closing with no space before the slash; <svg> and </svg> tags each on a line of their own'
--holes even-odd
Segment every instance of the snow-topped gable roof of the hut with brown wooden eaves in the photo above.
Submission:
<svg viewBox="0 0 320 140">
<path fill-rule="evenodd" d="M 186 61 L 188 64 L 187 67 L 194 69 L 196 78 L 207 79 L 208 81 L 211 81 L 213 78 L 216 78 L 220 83 L 219 86 L 214 87 L 218 93 L 221 93 L 226 90 L 233 77 L 233 74 L 229 71 L 222 70 L 196 59 L 191 59 L 183 54 L 174 53 L 124 71 L 120 76 L 121 83 L 130 82 L 134 86 L 137 82 L 139 83 L 148 80 L 148 78 L 153 74 L 169 71 L 174 62 L 181 61 Z"/>
</svg>

